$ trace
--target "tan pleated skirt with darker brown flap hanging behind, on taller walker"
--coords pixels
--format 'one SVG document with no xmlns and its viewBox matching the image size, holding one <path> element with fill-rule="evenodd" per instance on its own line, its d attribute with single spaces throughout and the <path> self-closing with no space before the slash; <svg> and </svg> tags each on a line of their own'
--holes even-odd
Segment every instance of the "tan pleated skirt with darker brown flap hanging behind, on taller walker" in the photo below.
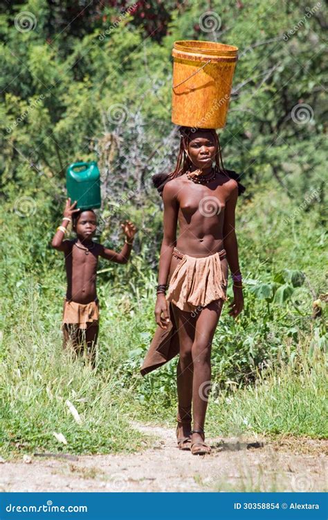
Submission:
<svg viewBox="0 0 328 520">
<path fill-rule="evenodd" d="M 172 310 L 173 303 L 184 311 L 192 312 L 197 307 L 206 306 L 214 300 L 227 300 L 228 280 L 221 269 L 221 259 L 226 256 L 225 250 L 201 258 L 189 257 L 176 248 L 173 254 L 181 261 L 172 273 L 166 297 L 169 302 L 170 323 L 167 329 L 161 329 L 158 325 L 143 366 L 140 368 L 143 376 L 161 367 L 180 352 L 179 333 Z"/>
</svg>

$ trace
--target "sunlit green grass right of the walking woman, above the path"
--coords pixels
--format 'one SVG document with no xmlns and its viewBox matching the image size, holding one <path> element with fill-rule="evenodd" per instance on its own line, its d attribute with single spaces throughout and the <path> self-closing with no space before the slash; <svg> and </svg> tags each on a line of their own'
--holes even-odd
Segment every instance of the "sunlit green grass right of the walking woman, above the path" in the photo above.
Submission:
<svg viewBox="0 0 328 520">
<path fill-rule="evenodd" d="M 212 435 L 328 435 L 327 385 L 322 352 L 309 359 L 302 350 L 293 363 L 262 374 L 255 385 L 219 394 L 210 404 Z M 322 418 L 319 419 L 319 418 Z"/>
</svg>

